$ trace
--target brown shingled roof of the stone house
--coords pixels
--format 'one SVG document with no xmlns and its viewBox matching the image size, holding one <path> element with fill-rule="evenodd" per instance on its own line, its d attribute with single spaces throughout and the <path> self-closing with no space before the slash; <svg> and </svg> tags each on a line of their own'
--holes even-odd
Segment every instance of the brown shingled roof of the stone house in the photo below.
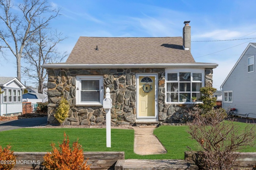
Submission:
<svg viewBox="0 0 256 170">
<path fill-rule="evenodd" d="M 195 63 L 182 45 L 182 37 L 80 37 L 66 64 Z"/>
</svg>

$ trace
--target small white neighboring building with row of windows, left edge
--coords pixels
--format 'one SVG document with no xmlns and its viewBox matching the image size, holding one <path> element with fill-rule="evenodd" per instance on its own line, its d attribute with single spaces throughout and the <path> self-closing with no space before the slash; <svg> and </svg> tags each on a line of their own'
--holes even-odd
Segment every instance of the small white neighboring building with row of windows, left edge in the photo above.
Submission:
<svg viewBox="0 0 256 170">
<path fill-rule="evenodd" d="M 25 86 L 16 77 L 0 77 L 0 115 L 22 113 L 22 89 Z"/>
</svg>

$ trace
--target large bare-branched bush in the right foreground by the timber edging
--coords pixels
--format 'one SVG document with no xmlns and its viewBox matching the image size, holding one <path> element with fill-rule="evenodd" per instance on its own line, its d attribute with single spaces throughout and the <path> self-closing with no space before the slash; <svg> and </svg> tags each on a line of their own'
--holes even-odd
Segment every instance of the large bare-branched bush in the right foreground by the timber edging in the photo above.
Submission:
<svg viewBox="0 0 256 170">
<path fill-rule="evenodd" d="M 204 170 L 229 170 L 240 156 L 240 150 L 254 145 L 256 125 L 247 124 L 244 129 L 234 119 L 223 121 L 226 110 L 210 110 L 201 114 L 197 110 L 190 114 L 194 119 L 187 123 L 188 133 L 201 146 L 194 152 L 195 163 Z"/>
</svg>

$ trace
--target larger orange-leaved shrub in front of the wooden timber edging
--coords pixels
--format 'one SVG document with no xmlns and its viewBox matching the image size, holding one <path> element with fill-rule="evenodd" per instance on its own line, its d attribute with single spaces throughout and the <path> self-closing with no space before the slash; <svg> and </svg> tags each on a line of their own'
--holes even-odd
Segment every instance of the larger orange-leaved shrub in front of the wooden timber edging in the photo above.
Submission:
<svg viewBox="0 0 256 170">
<path fill-rule="evenodd" d="M 44 156 L 44 165 L 48 170 L 90 170 L 87 160 L 84 162 L 82 146 L 77 141 L 73 142 L 72 148 L 69 146 L 69 137 L 64 132 L 64 140 L 59 144 L 59 149 L 52 143 L 52 153 Z"/>
</svg>

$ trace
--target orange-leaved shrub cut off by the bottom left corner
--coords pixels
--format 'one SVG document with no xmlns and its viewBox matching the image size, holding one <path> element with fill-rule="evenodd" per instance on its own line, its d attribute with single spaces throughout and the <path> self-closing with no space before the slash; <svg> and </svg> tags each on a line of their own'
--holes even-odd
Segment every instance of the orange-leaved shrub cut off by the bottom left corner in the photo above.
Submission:
<svg viewBox="0 0 256 170">
<path fill-rule="evenodd" d="M 7 145 L 4 149 L 0 145 L 0 169 L 10 170 L 16 164 L 16 156 L 10 150 L 11 146 Z"/>
</svg>

